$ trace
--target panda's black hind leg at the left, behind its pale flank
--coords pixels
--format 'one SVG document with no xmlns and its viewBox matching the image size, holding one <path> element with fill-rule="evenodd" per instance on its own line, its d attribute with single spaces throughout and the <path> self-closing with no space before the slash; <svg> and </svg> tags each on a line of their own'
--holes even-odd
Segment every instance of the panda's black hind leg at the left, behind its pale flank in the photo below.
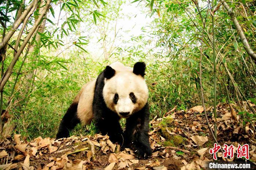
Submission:
<svg viewBox="0 0 256 170">
<path fill-rule="evenodd" d="M 56 139 L 69 137 L 69 131 L 74 129 L 75 126 L 80 122 L 79 118 L 77 117 L 77 107 L 78 103 L 72 103 L 69 106 L 67 112 L 60 122 Z"/>
</svg>

